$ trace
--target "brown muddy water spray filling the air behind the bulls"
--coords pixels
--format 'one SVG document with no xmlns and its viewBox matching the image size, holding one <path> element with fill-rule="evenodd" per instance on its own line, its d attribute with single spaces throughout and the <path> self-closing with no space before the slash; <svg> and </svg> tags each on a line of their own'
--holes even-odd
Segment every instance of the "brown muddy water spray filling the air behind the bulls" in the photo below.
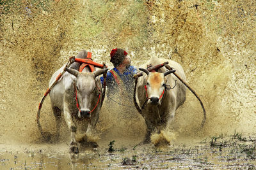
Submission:
<svg viewBox="0 0 256 170">
<path fill-rule="evenodd" d="M 124 48 L 137 67 L 153 55 L 179 62 L 189 85 L 200 95 L 207 111 L 205 127 L 200 129 L 202 108 L 188 91 L 170 127 L 175 135 L 162 132 L 161 136 L 167 136 L 164 138 L 205 138 L 235 130 L 254 133 L 254 3 L 1 1 L 0 143 L 38 143 L 36 111 L 52 73 L 82 49 L 92 52 L 96 62 L 113 67 L 109 52 L 115 47 Z M 136 110 L 120 108 L 104 103 L 97 125 L 100 140 L 140 142 L 145 134 L 143 118 Z M 44 131 L 54 132 L 49 97 L 41 115 Z M 62 141 L 69 141 L 66 129 L 63 122 Z M 154 141 L 159 140 L 155 137 Z"/>
</svg>

